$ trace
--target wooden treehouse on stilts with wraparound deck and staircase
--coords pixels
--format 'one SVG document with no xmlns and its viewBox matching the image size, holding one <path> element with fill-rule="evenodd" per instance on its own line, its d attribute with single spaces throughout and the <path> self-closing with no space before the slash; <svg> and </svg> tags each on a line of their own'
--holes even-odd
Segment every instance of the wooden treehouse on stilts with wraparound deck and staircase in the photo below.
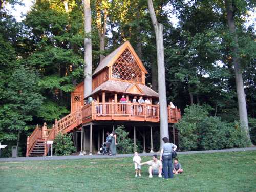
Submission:
<svg viewBox="0 0 256 192">
<path fill-rule="evenodd" d="M 124 42 L 94 71 L 92 93 L 89 95 L 93 101 L 85 104 L 84 100 L 88 98 L 84 98 L 84 83 L 79 83 L 71 93 L 71 113 L 55 120 L 52 129 L 47 129 L 46 124 L 37 126 L 27 139 L 27 156 L 46 156 L 46 141 L 53 140 L 58 133 L 68 132 L 72 132 L 77 151 L 92 154 L 104 142 L 105 133 L 122 124 L 130 133 L 133 132 L 135 142 L 136 135 L 143 140 L 144 152 L 146 145 L 153 152 L 153 134 L 159 131 L 160 125 L 159 95 L 145 85 L 146 73 L 130 42 Z M 137 102 L 133 102 L 134 96 L 137 96 Z M 139 103 L 139 97 L 148 99 Z M 166 110 L 169 127 L 173 127 L 169 129 L 170 137 L 177 143 L 174 123 L 181 118 L 180 110 L 170 106 Z M 148 132 L 148 139 L 145 132 Z"/>
</svg>

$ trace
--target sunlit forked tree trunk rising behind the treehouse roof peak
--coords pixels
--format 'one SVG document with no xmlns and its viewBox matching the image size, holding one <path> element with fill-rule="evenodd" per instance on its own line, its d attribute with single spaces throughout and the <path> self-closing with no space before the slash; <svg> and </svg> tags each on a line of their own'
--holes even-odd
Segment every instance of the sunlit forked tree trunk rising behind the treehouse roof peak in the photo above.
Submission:
<svg viewBox="0 0 256 192">
<path fill-rule="evenodd" d="M 106 6 L 106 0 L 104 0 L 104 6 Z M 97 28 L 98 28 L 98 35 L 99 35 L 99 61 L 101 62 L 104 59 L 104 55 L 102 54 L 105 50 L 105 36 L 106 36 L 106 18 L 108 17 L 108 11 L 106 7 L 104 9 L 104 16 L 103 16 L 103 26 L 101 22 L 101 1 L 96 1 L 96 11 L 97 11 Z"/>
</svg>

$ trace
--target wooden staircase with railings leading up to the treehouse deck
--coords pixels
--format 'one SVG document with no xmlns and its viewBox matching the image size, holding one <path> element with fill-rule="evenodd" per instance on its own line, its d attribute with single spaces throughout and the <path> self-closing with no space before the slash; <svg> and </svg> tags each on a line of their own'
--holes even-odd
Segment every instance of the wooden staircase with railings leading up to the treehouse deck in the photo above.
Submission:
<svg viewBox="0 0 256 192">
<path fill-rule="evenodd" d="M 46 123 L 42 127 L 36 125 L 36 129 L 27 138 L 26 157 L 46 156 L 48 153 L 47 141 L 54 140 L 59 133 L 65 134 L 78 129 L 82 123 L 81 119 L 81 109 L 78 109 L 58 121 L 56 119 L 52 129 L 47 129 Z"/>
</svg>

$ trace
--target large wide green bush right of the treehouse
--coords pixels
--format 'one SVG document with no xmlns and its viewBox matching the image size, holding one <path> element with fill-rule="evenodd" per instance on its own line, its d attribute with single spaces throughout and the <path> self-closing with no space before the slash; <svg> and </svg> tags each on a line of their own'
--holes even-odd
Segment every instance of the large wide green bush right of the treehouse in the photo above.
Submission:
<svg viewBox="0 0 256 192">
<path fill-rule="evenodd" d="M 177 124 L 181 150 L 216 150 L 246 146 L 245 133 L 239 123 L 227 123 L 208 116 L 198 105 L 188 106 Z"/>
</svg>

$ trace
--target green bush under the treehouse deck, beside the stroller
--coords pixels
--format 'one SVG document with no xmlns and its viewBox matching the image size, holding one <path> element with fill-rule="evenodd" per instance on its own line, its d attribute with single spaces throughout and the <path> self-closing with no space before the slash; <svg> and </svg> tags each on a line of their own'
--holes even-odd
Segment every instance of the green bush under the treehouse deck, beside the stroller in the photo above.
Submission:
<svg viewBox="0 0 256 192">
<path fill-rule="evenodd" d="M 118 125 L 115 129 L 117 134 L 117 153 L 118 154 L 129 154 L 134 152 L 134 141 L 128 137 L 129 132 L 125 131 L 123 125 Z M 142 147 L 136 144 L 137 150 L 140 150 Z"/>
</svg>

